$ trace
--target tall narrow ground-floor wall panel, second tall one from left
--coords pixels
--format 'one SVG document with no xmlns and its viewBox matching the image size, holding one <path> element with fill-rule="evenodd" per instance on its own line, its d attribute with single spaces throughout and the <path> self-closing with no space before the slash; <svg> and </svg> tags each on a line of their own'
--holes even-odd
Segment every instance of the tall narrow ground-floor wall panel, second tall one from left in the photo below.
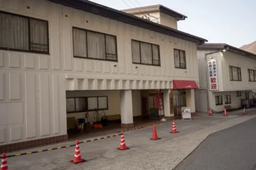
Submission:
<svg viewBox="0 0 256 170">
<path fill-rule="evenodd" d="M 45 136 L 50 134 L 48 73 L 39 73 L 39 91 L 40 133 Z"/>
</svg>

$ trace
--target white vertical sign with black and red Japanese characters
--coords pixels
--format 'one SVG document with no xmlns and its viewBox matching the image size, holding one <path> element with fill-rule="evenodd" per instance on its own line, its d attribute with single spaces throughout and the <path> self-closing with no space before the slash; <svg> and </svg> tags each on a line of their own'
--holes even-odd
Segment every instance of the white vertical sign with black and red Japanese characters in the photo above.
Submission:
<svg viewBox="0 0 256 170">
<path fill-rule="evenodd" d="M 216 59 L 212 59 L 208 61 L 208 74 L 209 74 L 210 91 L 219 90 Z"/>
</svg>

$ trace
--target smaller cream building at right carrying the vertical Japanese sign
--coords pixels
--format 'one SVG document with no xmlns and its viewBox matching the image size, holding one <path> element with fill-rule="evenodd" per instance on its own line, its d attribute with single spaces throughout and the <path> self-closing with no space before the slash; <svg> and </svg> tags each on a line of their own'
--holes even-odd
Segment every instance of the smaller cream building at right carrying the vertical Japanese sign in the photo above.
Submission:
<svg viewBox="0 0 256 170">
<path fill-rule="evenodd" d="M 256 90 L 256 55 L 217 43 L 199 45 L 197 50 L 200 89 L 195 91 L 196 111 L 249 107 L 252 90 Z"/>
</svg>

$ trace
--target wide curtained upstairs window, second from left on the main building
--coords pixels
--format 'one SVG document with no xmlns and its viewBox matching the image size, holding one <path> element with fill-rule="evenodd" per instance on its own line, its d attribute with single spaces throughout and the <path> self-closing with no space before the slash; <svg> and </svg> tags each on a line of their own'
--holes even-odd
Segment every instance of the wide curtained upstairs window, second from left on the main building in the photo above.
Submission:
<svg viewBox="0 0 256 170">
<path fill-rule="evenodd" d="M 73 27 L 74 57 L 117 61 L 116 36 Z"/>
</svg>

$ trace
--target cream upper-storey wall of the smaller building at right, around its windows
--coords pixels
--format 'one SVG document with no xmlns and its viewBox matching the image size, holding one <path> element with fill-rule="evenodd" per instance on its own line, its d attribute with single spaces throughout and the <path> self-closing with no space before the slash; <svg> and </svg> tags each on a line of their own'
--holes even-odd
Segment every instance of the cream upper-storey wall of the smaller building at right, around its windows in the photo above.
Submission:
<svg viewBox="0 0 256 170">
<path fill-rule="evenodd" d="M 198 72 L 200 89 L 207 89 L 208 79 L 205 74 L 205 53 L 211 51 L 198 50 Z M 233 52 L 218 52 L 207 55 L 207 60 L 217 59 L 219 91 L 255 90 L 256 82 L 248 81 L 248 69 L 256 70 L 256 59 L 251 59 Z M 229 66 L 241 67 L 242 81 L 230 81 Z"/>
</svg>

